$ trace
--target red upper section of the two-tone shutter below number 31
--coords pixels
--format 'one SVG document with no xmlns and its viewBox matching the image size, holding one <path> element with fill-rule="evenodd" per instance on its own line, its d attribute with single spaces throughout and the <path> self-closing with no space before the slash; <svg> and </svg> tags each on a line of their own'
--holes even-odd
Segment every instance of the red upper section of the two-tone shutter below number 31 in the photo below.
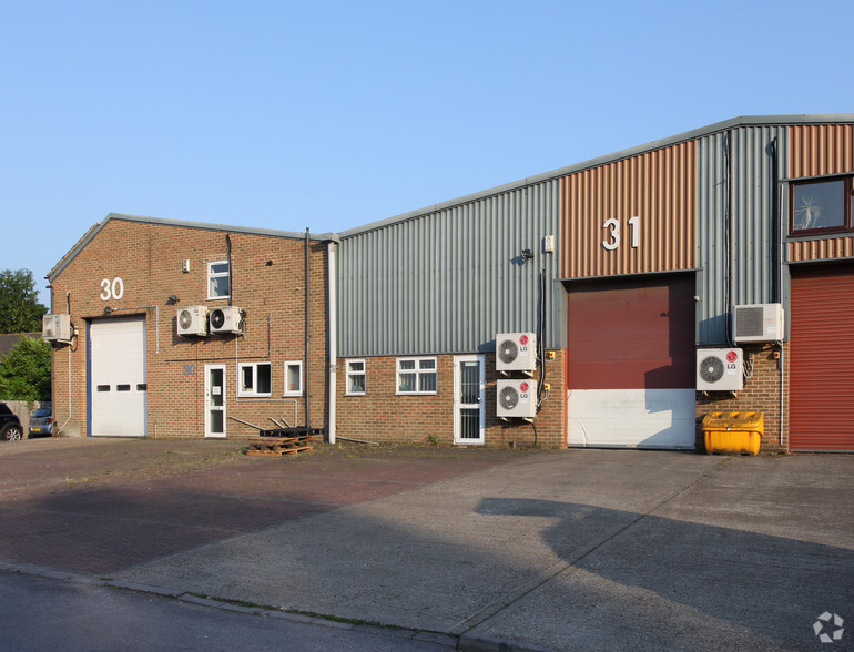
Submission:
<svg viewBox="0 0 854 652">
<path fill-rule="evenodd" d="M 572 284 L 567 387 L 693 387 L 693 294 L 688 274 Z"/>
</svg>

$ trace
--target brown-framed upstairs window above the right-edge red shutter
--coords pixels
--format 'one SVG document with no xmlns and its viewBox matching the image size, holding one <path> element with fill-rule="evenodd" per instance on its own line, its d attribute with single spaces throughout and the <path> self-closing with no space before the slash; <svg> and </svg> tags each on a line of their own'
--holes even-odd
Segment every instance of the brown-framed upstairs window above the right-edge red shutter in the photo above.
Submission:
<svg viewBox="0 0 854 652">
<path fill-rule="evenodd" d="M 854 230 L 853 180 L 845 176 L 793 183 L 790 200 L 792 235 Z"/>
</svg>

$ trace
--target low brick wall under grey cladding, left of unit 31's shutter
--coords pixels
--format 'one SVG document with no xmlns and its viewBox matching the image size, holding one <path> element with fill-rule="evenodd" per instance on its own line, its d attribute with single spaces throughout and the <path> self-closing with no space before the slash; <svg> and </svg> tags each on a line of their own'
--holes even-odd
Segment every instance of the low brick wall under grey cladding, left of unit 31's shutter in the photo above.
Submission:
<svg viewBox="0 0 854 652">
<path fill-rule="evenodd" d="M 543 400 L 535 419 L 537 444 L 543 447 L 566 446 L 566 387 L 562 350 L 546 363 L 546 381 L 551 393 Z M 486 434 L 487 446 L 529 446 L 535 442 L 531 424 L 521 419 L 505 422 L 496 414 L 495 354 L 486 356 Z M 423 444 L 435 440 L 454 442 L 454 356 L 437 358 L 438 390 L 435 395 L 397 394 L 397 358 L 365 359 L 366 391 L 363 396 L 346 395 L 346 361 L 338 359 L 336 432 L 377 442 Z M 349 358 L 352 359 L 352 358 Z M 362 358 L 358 358 L 362 359 Z M 539 371 L 536 375 L 539 379 Z"/>
</svg>

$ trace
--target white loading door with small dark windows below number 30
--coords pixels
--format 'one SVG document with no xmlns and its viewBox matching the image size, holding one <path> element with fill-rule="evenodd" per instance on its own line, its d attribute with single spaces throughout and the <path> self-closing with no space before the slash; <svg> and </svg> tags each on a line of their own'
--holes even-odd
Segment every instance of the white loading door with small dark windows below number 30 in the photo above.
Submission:
<svg viewBox="0 0 854 652">
<path fill-rule="evenodd" d="M 93 322 L 89 330 L 90 435 L 145 437 L 145 319 Z"/>
</svg>

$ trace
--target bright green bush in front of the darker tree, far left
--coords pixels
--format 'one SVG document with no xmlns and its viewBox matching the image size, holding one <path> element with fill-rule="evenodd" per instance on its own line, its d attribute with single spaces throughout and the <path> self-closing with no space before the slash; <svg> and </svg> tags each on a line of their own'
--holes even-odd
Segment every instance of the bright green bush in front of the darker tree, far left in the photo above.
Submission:
<svg viewBox="0 0 854 652">
<path fill-rule="evenodd" d="M 0 360 L 0 400 L 50 400 L 50 344 L 23 336 Z"/>
</svg>

